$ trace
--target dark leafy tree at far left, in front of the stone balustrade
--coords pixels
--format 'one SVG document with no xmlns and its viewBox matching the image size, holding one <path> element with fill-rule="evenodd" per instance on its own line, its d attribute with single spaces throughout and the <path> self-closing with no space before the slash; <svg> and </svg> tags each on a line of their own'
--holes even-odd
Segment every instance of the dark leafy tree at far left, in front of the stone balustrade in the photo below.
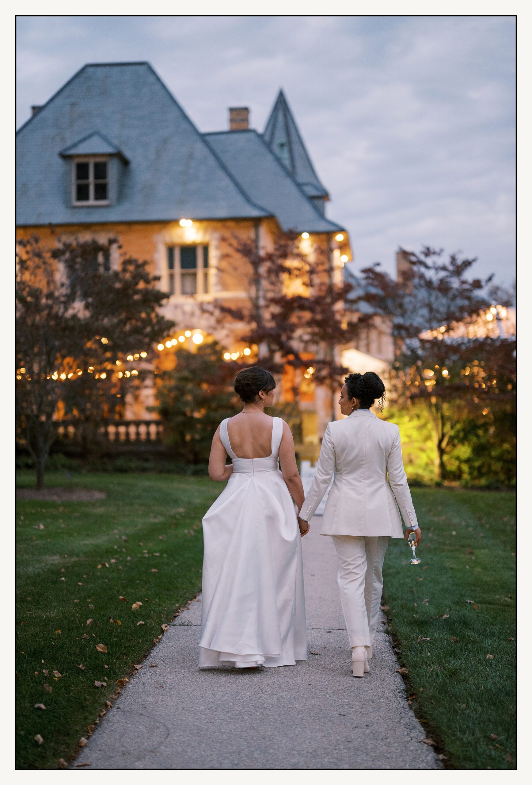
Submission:
<svg viewBox="0 0 532 785">
<path fill-rule="evenodd" d="M 81 422 L 89 438 L 89 424 L 94 431 L 115 417 L 141 372 L 127 357 L 149 359 L 173 326 L 159 314 L 168 295 L 155 289 L 148 262 L 125 257 L 111 270 L 113 242 L 50 248 L 32 237 L 18 246 L 17 431 L 35 461 L 37 487 L 60 422 Z"/>
</svg>

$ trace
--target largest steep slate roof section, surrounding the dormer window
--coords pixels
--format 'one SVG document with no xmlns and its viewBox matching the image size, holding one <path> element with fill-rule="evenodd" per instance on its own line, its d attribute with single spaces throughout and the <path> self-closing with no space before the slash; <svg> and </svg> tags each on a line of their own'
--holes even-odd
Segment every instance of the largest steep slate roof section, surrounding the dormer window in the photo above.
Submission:
<svg viewBox="0 0 532 785">
<path fill-rule="evenodd" d="M 60 152 L 97 128 L 129 159 L 110 206 L 71 206 Z M 17 134 L 18 225 L 262 217 L 148 63 L 89 64 Z"/>
</svg>

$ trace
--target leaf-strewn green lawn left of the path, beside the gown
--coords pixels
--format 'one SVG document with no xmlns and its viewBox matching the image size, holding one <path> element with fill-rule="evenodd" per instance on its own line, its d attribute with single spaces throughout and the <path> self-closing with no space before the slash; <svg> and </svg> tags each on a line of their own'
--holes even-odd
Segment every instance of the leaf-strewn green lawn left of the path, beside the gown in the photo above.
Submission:
<svg viewBox="0 0 532 785">
<path fill-rule="evenodd" d="M 133 672 L 162 624 L 199 591 L 201 519 L 224 487 L 169 474 L 66 480 L 50 473 L 46 480 L 49 487 L 96 488 L 107 498 L 17 504 L 16 765 L 23 769 L 70 760 L 119 692 L 117 680 Z M 32 473 L 18 473 L 19 487 L 34 482 Z M 133 611 L 137 601 L 142 606 Z"/>
</svg>

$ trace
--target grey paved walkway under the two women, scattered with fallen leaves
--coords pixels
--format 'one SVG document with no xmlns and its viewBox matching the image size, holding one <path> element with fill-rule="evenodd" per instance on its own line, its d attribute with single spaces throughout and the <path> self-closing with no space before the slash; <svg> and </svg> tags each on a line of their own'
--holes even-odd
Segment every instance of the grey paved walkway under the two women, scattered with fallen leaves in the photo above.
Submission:
<svg viewBox="0 0 532 785">
<path fill-rule="evenodd" d="M 93 769 L 439 769 L 406 703 L 391 641 L 352 677 L 337 556 L 303 539 L 308 662 L 198 670 L 201 599 L 176 619 L 75 763 Z M 157 668 L 149 668 L 156 664 Z"/>
</svg>

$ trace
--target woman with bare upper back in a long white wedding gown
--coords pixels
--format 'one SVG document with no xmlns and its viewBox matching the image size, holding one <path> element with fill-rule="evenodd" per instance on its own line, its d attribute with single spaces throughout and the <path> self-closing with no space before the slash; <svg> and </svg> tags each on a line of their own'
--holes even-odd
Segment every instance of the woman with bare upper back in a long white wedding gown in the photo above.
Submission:
<svg viewBox="0 0 532 785">
<path fill-rule="evenodd" d="M 308 523 L 298 524 L 290 498 L 301 509 L 290 428 L 264 414 L 274 389 L 268 371 L 240 371 L 242 412 L 221 422 L 213 437 L 209 476 L 228 484 L 203 518 L 200 668 L 307 659 L 301 537 Z"/>
</svg>

